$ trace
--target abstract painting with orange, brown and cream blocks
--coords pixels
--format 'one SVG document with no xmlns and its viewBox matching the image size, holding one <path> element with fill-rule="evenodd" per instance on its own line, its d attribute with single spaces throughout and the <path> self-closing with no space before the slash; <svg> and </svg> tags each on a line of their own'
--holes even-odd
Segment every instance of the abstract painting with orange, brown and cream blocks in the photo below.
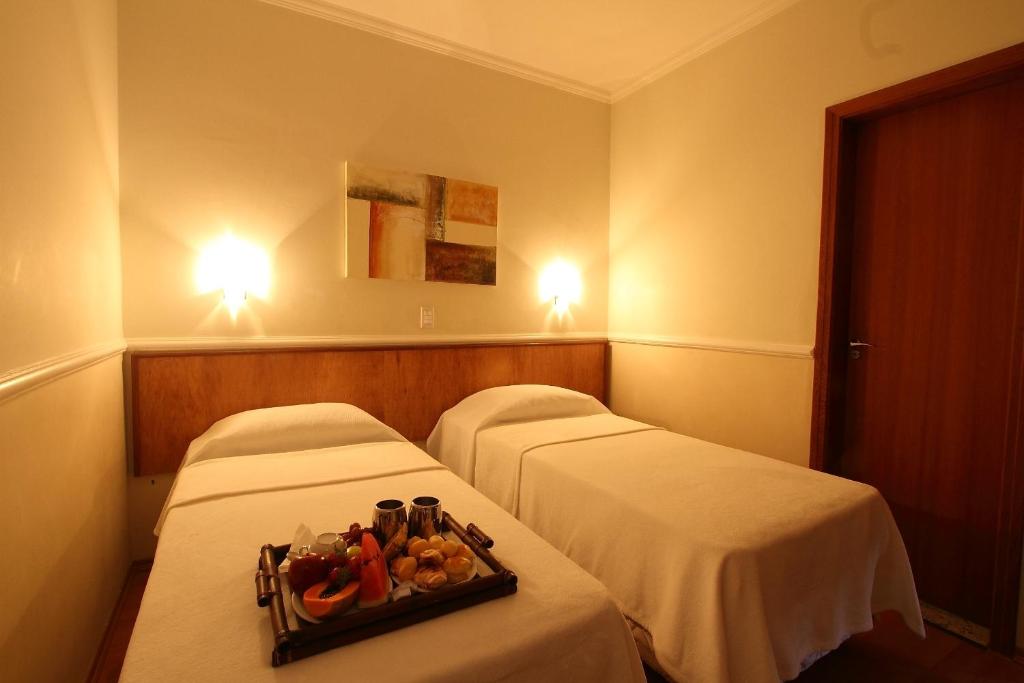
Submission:
<svg viewBox="0 0 1024 683">
<path fill-rule="evenodd" d="M 345 164 L 349 276 L 497 284 L 498 188 Z"/>
</svg>

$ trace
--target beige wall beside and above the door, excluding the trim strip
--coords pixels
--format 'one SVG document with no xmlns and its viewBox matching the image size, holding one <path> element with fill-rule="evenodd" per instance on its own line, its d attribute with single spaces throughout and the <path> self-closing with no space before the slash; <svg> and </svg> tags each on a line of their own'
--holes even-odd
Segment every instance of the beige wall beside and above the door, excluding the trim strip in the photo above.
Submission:
<svg viewBox="0 0 1024 683">
<path fill-rule="evenodd" d="M 1022 40 L 1018 0 L 803 0 L 613 104 L 610 332 L 809 348 L 824 109 Z M 810 358 L 612 356 L 616 411 L 807 462 Z"/>
</svg>

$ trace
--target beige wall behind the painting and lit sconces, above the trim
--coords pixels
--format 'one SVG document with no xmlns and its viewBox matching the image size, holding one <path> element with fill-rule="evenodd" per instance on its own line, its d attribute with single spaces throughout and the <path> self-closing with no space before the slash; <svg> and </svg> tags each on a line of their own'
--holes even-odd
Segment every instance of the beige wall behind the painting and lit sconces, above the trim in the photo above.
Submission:
<svg viewBox="0 0 1024 683">
<path fill-rule="evenodd" d="M 608 106 L 256 0 L 121 6 L 121 189 L 129 337 L 597 332 L 606 327 Z M 345 280 L 339 164 L 500 188 L 497 288 Z M 271 252 L 238 324 L 196 294 L 226 226 Z M 584 271 L 574 321 L 538 300 L 556 256 Z"/>
</svg>

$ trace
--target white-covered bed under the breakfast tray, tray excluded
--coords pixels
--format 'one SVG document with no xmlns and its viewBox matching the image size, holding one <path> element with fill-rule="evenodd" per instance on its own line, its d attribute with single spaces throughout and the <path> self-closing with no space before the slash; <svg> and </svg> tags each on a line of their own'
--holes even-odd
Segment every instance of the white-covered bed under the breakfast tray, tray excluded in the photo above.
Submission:
<svg viewBox="0 0 1024 683">
<path fill-rule="evenodd" d="M 378 500 L 422 495 L 495 539 L 518 592 L 272 669 L 253 583 L 259 548 L 287 543 L 300 522 L 367 524 Z M 158 532 L 126 682 L 644 680 L 629 626 L 597 581 L 352 407 L 218 423 L 189 449 Z"/>
</svg>

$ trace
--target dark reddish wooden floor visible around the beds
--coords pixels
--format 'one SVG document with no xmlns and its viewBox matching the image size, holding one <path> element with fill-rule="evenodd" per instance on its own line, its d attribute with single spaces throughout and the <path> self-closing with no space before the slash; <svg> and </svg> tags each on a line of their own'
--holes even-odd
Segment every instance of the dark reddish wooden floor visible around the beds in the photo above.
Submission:
<svg viewBox="0 0 1024 683">
<path fill-rule="evenodd" d="M 115 683 L 121 673 L 150 563 L 133 564 L 125 581 L 103 645 L 96 654 L 90 683 Z M 647 672 L 651 683 L 664 678 Z M 1024 683 L 1024 665 L 928 627 L 928 638 L 914 636 L 895 614 L 879 617 L 870 633 L 854 636 L 805 671 L 798 683 Z"/>
</svg>

